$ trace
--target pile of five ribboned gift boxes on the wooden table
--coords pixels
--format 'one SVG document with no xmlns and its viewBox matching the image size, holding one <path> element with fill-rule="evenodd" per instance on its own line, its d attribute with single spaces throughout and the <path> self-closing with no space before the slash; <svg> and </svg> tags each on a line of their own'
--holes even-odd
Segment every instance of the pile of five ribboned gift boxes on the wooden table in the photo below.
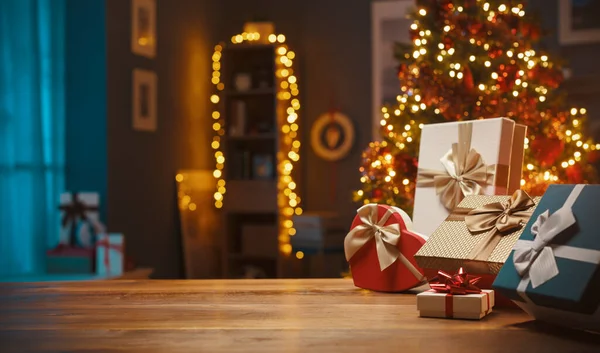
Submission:
<svg viewBox="0 0 600 353">
<path fill-rule="evenodd" d="M 417 295 L 423 317 L 481 319 L 514 303 L 538 320 L 600 331 L 600 186 L 520 190 L 526 127 L 510 119 L 421 134 L 413 221 L 368 204 L 346 236 L 355 285 L 428 283 Z"/>
</svg>

